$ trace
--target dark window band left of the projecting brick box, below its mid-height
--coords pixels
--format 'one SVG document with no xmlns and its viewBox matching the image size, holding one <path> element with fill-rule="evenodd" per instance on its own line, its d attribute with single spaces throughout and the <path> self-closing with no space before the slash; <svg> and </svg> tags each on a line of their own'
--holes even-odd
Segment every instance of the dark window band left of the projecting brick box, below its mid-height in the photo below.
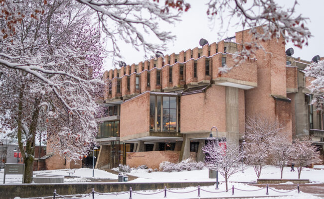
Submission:
<svg viewBox="0 0 324 199">
<path fill-rule="evenodd" d="M 97 139 L 107 137 L 119 137 L 119 121 L 99 123 Z"/>
</svg>

